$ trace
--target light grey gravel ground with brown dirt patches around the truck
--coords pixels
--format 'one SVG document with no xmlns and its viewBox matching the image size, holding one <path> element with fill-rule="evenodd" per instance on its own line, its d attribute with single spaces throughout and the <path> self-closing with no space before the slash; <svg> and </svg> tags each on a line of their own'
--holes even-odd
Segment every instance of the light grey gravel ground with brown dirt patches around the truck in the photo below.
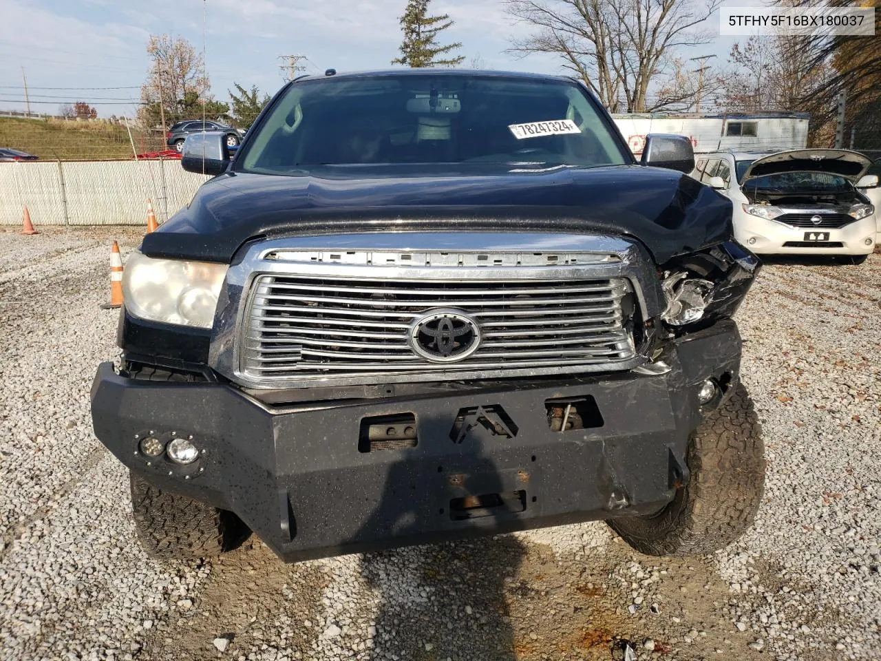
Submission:
<svg viewBox="0 0 881 661">
<path fill-rule="evenodd" d="M 284 565 L 251 539 L 148 560 L 89 388 L 109 242 L 0 229 L 0 658 L 873 659 L 881 635 L 881 256 L 766 266 L 739 316 L 766 433 L 755 527 L 709 558 L 603 524 Z"/>
</svg>

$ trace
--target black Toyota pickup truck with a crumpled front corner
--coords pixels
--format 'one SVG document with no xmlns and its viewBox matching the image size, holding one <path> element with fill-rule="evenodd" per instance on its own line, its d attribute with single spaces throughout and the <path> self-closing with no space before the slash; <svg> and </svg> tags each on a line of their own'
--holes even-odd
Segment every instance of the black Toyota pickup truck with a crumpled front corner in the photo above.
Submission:
<svg viewBox="0 0 881 661">
<path fill-rule="evenodd" d="M 608 520 L 644 553 L 751 524 L 732 316 L 759 263 L 685 137 L 640 163 L 580 82 L 304 77 L 126 264 L 95 434 L 159 556 L 285 561 Z"/>
</svg>

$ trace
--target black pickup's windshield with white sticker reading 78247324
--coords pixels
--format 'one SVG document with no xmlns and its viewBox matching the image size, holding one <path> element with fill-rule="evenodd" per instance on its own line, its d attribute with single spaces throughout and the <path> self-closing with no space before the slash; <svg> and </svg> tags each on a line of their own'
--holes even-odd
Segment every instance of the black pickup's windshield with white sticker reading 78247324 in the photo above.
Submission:
<svg viewBox="0 0 881 661">
<path fill-rule="evenodd" d="M 577 84 L 458 73 L 291 85 L 237 160 L 241 171 L 277 175 L 345 165 L 631 162 Z"/>
</svg>

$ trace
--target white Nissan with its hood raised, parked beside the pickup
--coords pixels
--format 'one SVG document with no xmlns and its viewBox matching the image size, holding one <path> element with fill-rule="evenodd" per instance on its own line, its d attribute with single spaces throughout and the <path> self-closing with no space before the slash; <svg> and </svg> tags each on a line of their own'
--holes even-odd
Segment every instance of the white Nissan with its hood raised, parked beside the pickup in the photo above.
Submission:
<svg viewBox="0 0 881 661">
<path fill-rule="evenodd" d="M 734 203 L 734 234 L 751 251 L 845 255 L 859 264 L 877 234 L 870 166 L 840 149 L 716 152 L 700 157 L 693 176 Z"/>
</svg>

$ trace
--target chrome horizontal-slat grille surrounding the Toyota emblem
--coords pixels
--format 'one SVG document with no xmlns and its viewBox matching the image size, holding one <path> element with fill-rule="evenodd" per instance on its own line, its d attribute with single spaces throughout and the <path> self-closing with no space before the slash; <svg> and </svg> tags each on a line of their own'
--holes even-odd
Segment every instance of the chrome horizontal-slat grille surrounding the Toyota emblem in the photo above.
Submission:
<svg viewBox="0 0 881 661">
<path fill-rule="evenodd" d="M 439 308 L 478 323 L 481 344 L 468 358 L 434 363 L 411 349 L 412 325 Z M 429 381 L 488 370 L 506 376 L 530 368 L 623 369 L 635 358 L 634 308 L 633 289 L 621 278 L 261 275 L 242 324 L 240 369 L 251 381 L 303 385 L 341 376 Z"/>
</svg>

